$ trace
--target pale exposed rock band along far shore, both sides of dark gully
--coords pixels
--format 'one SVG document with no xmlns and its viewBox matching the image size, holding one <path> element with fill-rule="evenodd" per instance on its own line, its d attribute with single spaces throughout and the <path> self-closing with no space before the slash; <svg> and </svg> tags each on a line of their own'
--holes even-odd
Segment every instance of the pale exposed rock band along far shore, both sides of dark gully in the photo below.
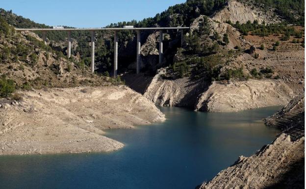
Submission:
<svg viewBox="0 0 306 189">
<path fill-rule="evenodd" d="M 293 97 L 291 89 L 277 80 L 231 81 L 227 84 L 214 81 L 209 86 L 209 83 L 192 82 L 187 78 L 163 79 L 165 73 L 166 68 L 160 69 L 144 93 L 144 97 L 159 106 L 238 111 L 284 106 Z"/>
</svg>

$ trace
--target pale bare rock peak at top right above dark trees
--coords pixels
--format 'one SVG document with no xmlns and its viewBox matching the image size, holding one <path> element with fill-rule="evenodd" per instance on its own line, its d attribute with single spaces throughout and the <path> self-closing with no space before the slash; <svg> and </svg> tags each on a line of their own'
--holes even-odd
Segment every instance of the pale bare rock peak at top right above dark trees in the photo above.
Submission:
<svg viewBox="0 0 306 189">
<path fill-rule="evenodd" d="M 242 24 L 248 21 L 252 23 L 257 20 L 259 24 L 263 21 L 265 23 L 279 23 L 281 19 L 273 13 L 273 9 L 263 12 L 259 7 L 246 3 L 239 2 L 237 0 L 229 0 L 223 9 L 216 12 L 211 16 L 215 21 L 224 23 L 226 21 L 231 21 L 236 23 L 237 21 Z"/>
</svg>

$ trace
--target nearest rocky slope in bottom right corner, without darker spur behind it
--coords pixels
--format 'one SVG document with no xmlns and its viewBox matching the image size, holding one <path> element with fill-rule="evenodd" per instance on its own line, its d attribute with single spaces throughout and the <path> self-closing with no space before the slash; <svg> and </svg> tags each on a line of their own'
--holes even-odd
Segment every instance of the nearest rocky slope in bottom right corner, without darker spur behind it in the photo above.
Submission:
<svg viewBox="0 0 306 189">
<path fill-rule="evenodd" d="M 249 158 L 239 157 L 199 189 L 302 189 L 304 188 L 305 138 L 291 141 L 280 135 Z"/>
</svg>

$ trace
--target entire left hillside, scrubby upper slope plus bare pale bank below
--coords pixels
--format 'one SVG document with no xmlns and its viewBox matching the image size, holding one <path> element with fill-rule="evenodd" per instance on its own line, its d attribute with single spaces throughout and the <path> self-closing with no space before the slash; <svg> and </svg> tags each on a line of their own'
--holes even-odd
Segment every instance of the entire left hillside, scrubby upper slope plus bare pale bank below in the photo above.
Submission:
<svg viewBox="0 0 306 189">
<path fill-rule="evenodd" d="M 165 119 L 120 78 L 91 74 L 37 34 L 0 21 L 0 155 L 116 150 L 123 144 L 102 130 Z"/>
</svg>

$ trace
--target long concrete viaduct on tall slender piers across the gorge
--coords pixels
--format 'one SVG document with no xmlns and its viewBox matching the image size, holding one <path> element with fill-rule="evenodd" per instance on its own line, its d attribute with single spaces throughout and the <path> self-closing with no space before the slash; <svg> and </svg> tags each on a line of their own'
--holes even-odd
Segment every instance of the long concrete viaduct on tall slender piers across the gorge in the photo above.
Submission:
<svg viewBox="0 0 306 189">
<path fill-rule="evenodd" d="M 135 30 L 137 32 L 137 56 L 136 56 L 136 73 L 140 72 L 140 34 L 141 30 L 159 30 L 159 63 L 162 62 L 163 56 L 163 30 L 165 29 L 178 29 L 180 30 L 181 45 L 183 43 L 183 30 L 189 27 L 115 27 L 115 28 L 15 28 L 16 31 L 42 31 L 43 40 L 47 43 L 47 31 L 67 31 L 67 56 L 71 56 L 71 31 L 75 30 L 88 30 L 91 31 L 91 73 L 95 70 L 95 31 L 96 30 L 111 30 L 114 31 L 114 77 L 117 77 L 118 71 L 118 36 L 117 32 L 120 30 Z"/>
</svg>

